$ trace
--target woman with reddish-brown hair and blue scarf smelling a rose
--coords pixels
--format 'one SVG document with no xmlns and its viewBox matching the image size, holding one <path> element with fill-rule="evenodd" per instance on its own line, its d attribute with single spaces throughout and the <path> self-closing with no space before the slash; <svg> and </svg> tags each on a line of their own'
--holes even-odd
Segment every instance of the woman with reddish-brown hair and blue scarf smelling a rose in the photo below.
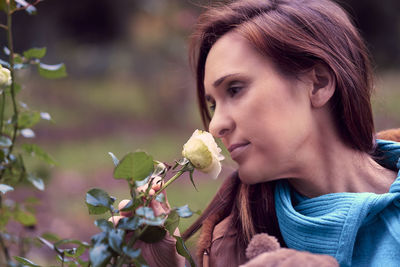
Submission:
<svg viewBox="0 0 400 267">
<path fill-rule="evenodd" d="M 238 1 L 201 15 L 190 48 L 203 122 L 238 163 L 183 234 L 203 228 L 199 265 L 246 262 L 260 232 L 341 266 L 400 264 L 400 145 L 374 138 L 371 66 L 346 13 Z"/>
</svg>

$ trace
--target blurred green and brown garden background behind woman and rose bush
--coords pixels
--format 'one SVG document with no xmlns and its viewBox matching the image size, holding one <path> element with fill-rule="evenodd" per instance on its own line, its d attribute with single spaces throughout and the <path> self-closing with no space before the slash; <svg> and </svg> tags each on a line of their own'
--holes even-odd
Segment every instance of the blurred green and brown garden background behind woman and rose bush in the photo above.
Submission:
<svg viewBox="0 0 400 267">
<path fill-rule="evenodd" d="M 37 235 L 53 232 L 62 238 L 90 240 L 97 232 L 95 216 L 84 204 L 93 187 L 106 189 L 117 202 L 129 196 L 123 181 L 112 178 L 107 152 L 121 158 L 143 149 L 155 159 L 172 163 L 193 130 L 202 128 L 187 40 L 201 0 L 46 0 L 38 14 L 14 17 L 17 52 L 47 47 L 43 62 L 64 62 L 68 77 L 44 80 L 35 70 L 19 72 L 24 84 L 20 99 L 31 109 L 49 112 L 52 122 L 34 130 L 36 142 L 58 162 L 49 168 L 28 162 L 45 178 L 46 190 L 30 187 L 10 194 L 36 196 Z M 368 42 L 377 77 L 374 115 L 377 130 L 400 127 L 400 2 L 347 0 L 339 2 L 356 21 Z M 5 45 L 5 36 L 0 36 Z M 4 55 L 2 55 L 3 57 Z M 223 166 L 225 177 L 235 168 Z M 202 210 L 223 180 L 195 175 L 197 192 L 182 178 L 168 190 L 173 206 L 189 204 Z M 184 230 L 197 215 L 183 221 Z M 12 226 L 11 226 L 12 227 Z M 42 254 L 44 253 L 44 254 Z M 37 263 L 52 252 L 33 250 Z"/>
</svg>

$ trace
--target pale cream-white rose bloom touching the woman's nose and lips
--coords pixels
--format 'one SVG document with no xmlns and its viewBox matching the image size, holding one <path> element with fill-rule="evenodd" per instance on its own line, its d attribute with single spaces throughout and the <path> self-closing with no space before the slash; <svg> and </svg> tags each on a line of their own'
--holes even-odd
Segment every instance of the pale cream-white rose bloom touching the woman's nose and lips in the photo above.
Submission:
<svg viewBox="0 0 400 267">
<path fill-rule="evenodd" d="M 199 171 L 208 173 L 216 179 L 221 172 L 220 161 L 224 159 L 221 148 L 218 147 L 214 137 L 201 130 L 194 131 L 183 146 L 182 155 Z"/>
</svg>

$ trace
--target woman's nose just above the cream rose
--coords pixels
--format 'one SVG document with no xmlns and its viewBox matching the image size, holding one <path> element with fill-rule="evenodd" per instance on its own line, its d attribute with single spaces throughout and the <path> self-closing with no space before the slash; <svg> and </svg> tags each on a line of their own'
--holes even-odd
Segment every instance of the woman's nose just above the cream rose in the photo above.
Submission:
<svg viewBox="0 0 400 267">
<path fill-rule="evenodd" d="M 234 127 L 234 121 L 229 113 L 216 108 L 209 125 L 210 133 L 214 137 L 223 138 L 231 133 Z"/>
</svg>

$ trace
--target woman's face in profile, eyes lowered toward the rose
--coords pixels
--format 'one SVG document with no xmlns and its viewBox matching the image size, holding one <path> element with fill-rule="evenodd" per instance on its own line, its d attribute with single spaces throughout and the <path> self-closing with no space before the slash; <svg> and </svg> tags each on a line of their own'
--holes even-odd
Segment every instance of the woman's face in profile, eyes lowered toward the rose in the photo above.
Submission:
<svg viewBox="0 0 400 267">
<path fill-rule="evenodd" d="M 290 178 L 312 133 L 311 83 L 286 77 L 231 32 L 211 48 L 205 93 L 210 132 L 222 139 L 244 183 Z"/>
</svg>

